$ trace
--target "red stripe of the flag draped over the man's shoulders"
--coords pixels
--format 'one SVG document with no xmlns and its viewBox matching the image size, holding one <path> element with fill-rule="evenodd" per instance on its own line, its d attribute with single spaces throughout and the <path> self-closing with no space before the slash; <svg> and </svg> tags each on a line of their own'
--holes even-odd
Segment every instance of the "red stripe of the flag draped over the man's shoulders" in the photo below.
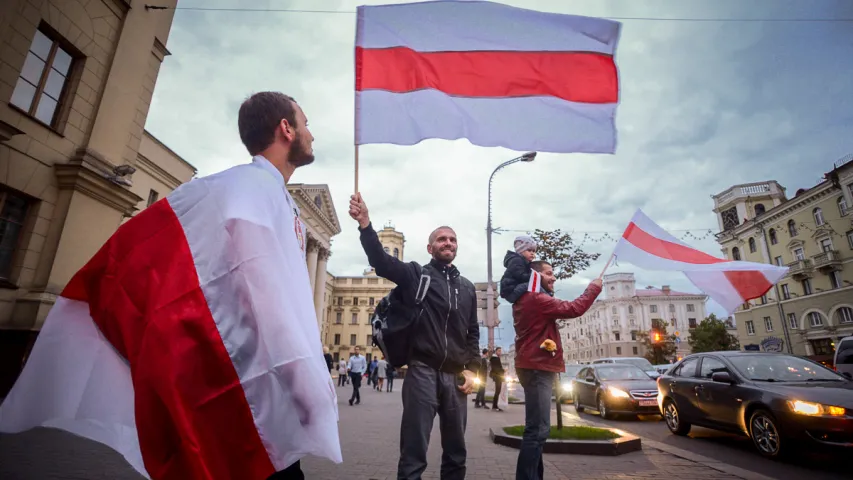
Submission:
<svg viewBox="0 0 853 480">
<path fill-rule="evenodd" d="M 274 468 L 167 200 L 122 225 L 62 296 L 89 303 L 130 364 L 145 468 L 162 479 L 266 479 Z"/>
</svg>

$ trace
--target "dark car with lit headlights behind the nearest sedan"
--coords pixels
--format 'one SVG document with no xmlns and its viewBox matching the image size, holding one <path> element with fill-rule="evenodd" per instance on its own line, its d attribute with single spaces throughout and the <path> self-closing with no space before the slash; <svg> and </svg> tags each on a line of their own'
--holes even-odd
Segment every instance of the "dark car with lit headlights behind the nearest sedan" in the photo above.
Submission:
<svg viewBox="0 0 853 480">
<path fill-rule="evenodd" d="M 598 410 L 602 418 L 628 413 L 659 415 L 657 385 L 639 367 L 623 363 L 590 365 L 572 380 L 578 413 L 584 407 Z"/>
</svg>

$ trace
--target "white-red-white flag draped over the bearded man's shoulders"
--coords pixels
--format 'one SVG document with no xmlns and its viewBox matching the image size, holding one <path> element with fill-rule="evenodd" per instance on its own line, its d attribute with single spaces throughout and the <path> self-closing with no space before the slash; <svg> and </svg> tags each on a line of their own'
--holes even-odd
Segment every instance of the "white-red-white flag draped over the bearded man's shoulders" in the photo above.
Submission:
<svg viewBox="0 0 853 480">
<path fill-rule="evenodd" d="M 266 479 L 341 462 L 298 209 L 263 157 L 182 185 L 71 279 L 0 408 L 153 479 Z"/>
</svg>

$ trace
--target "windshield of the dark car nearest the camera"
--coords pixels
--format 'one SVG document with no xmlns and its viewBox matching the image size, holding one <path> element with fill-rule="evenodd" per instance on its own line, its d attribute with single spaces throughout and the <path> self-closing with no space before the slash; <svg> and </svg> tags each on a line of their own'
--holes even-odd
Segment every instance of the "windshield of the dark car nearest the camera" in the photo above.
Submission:
<svg viewBox="0 0 853 480">
<path fill-rule="evenodd" d="M 793 355 L 734 355 L 729 360 L 741 375 L 758 382 L 845 380 L 826 367 Z"/>
</svg>

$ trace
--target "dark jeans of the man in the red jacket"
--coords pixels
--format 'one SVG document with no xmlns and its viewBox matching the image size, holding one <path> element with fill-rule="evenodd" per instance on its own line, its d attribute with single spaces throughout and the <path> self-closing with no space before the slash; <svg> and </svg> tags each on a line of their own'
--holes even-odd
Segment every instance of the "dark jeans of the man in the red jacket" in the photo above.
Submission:
<svg viewBox="0 0 853 480">
<path fill-rule="evenodd" d="M 516 368 L 524 388 L 524 436 L 515 467 L 516 480 L 541 480 L 545 474 L 542 449 L 551 431 L 551 392 L 554 372 Z"/>
</svg>

